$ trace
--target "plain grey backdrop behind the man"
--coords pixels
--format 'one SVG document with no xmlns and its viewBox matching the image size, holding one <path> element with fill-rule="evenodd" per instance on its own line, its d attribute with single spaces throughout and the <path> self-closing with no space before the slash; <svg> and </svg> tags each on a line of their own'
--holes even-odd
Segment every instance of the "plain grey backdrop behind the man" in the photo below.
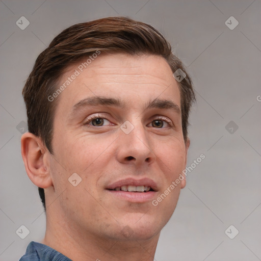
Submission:
<svg viewBox="0 0 261 261">
<path fill-rule="evenodd" d="M 205 159 L 187 176 L 155 260 L 261 260 L 260 11 L 259 0 L 1 0 L 0 260 L 18 260 L 45 231 L 20 155 L 21 121 L 27 121 L 21 90 L 34 61 L 69 25 L 118 15 L 161 31 L 197 92 L 188 166 L 201 153 Z M 25 30 L 16 25 L 21 16 L 30 21 Z M 225 24 L 230 16 L 239 22 L 233 30 Z M 16 234 L 21 225 L 30 230 L 23 240 Z M 230 225 L 239 230 L 234 239 L 224 232 Z"/>
</svg>

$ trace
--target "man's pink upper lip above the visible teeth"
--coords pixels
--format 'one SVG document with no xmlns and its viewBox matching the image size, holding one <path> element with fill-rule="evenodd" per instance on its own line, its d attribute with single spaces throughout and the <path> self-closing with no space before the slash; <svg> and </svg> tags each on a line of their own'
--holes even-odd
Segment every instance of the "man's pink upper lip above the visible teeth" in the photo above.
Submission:
<svg viewBox="0 0 261 261">
<path fill-rule="evenodd" d="M 108 190 L 114 190 L 117 187 L 122 187 L 122 186 L 149 186 L 152 190 L 158 191 L 158 186 L 156 185 L 156 182 L 153 181 L 150 178 L 124 178 L 120 179 L 118 181 L 115 181 L 114 183 L 110 184 L 107 189 Z"/>
</svg>

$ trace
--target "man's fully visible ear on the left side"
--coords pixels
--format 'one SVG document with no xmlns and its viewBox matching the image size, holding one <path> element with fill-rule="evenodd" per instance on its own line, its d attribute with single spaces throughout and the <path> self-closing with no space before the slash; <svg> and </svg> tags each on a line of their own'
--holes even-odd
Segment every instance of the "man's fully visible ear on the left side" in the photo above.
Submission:
<svg viewBox="0 0 261 261">
<path fill-rule="evenodd" d="M 21 153 L 25 170 L 33 184 L 43 189 L 52 186 L 49 151 L 42 140 L 32 133 L 24 133 L 21 137 Z"/>
</svg>

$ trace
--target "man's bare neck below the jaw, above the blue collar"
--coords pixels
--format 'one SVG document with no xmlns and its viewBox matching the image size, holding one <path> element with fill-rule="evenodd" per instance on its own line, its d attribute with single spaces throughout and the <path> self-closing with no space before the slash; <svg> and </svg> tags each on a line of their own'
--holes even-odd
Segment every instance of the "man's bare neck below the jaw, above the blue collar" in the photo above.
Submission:
<svg viewBox="0 0 261 261">
<path fill-rule="evenodd" d="M 50 210 L 50 209 L 49 209 Z M 50 213 L 49 213 L 50 214 Z M 72 226 L 57 212 L 46 213 L 45 238 L 41 242 L 61 252 L 73 261 L 153 261 L 160 232 L 149 240 L 101 238 L 96 234 L 83 232 L 83 229 Z M 55 218 L 54 218 L 55 216 Z M 68 225 L 70 224 L 70 225 Z"/>
</svg>

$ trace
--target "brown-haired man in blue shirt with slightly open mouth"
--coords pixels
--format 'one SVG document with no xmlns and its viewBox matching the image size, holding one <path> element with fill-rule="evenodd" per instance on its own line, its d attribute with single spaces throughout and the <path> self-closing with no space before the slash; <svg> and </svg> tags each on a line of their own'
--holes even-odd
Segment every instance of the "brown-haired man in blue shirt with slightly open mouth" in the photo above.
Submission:
<svg viewBox="0 0 261 261">
<path fill-rule="evenodd" d="M 170 44 L 124 17 L 72 25 L 39 55 L 23 97 L 22 158 L 46 233 L 20 260 L 153 260 L 186 185 L 195 99 Z"/>
</svg>

